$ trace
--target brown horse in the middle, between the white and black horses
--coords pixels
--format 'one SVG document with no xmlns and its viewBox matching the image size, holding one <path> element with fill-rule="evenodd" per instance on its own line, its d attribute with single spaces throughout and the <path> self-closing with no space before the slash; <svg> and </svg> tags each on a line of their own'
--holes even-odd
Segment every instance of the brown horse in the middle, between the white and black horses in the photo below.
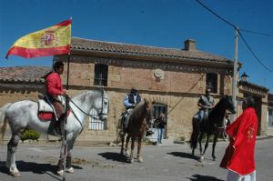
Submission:
<svg viewBox="0 0 273 181">
<path fill-rule="evenodd" d="M 128 126 L 125 128 L 123 125 L 123 131 L 121 132 L 121 150 L 120 154 L 124 155 L 124 151 L 126 152 L 126 156 L 130 157 L 130 162 L 134 162 L 134 148 L 135 142 L 137 139 L 137 160 L 139 162 L 143 162 L 143 158 L 141 157 L 141 141 L 143 136 L 146 135 L 147 131 L 147 120 L 152 117 L 153 104 L 144 98 L 143 101 L 138 103 L 129 117 Z M 127 136 L 126 136 L 127 134 Z M 124 147 L 124 141 L 126 136 L 126 147 Z M 131 153 L 128 151 L 128 143 L 131 137 Z"/>
</svg>

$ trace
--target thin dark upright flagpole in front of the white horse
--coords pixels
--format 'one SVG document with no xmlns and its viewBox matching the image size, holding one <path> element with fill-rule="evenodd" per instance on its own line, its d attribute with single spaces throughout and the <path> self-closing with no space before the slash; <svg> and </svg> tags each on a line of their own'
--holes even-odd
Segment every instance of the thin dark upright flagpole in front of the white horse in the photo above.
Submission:
<svg viewBox="0 0 273 181">
<path fill-rule="evenodd" d="M 70 17 L 70 20 L 72 20 L 72 17 Z M 71 46 L 70 46 L 71 48 Z M 70 65 L 70 52 L 67 55 L 67 74 L 66 74 L 66 116 L 65 121 L 63 121 L 64 126 L 64 133 L 63 134 L 63 146 L 64 146 L 64 156 L 63 156 L 63 163 L 64 163 L 64 174 L 63 174 L 63 181 L 66 181 L 66 154 L 67 154 L 67 141 L 66 141 L 66 124 L 67 124 L 67 111 L 69 106 L 68 101 L 68 89 L 69 89 L 69 65 Z"/>
</svg>

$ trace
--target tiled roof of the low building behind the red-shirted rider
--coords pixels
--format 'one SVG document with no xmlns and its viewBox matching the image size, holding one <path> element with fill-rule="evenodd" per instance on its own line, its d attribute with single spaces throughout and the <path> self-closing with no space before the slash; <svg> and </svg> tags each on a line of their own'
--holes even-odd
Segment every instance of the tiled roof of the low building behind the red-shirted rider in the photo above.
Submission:
<svg viewBox="0 0 273 181">
<path fill-rule="evenodd" d="M 1 82 L 18 82 L 18 83 L 42 83 L 46 74 L 51 72 L 49 66 L 14 66 L 0 67 Z"/>
</svg>

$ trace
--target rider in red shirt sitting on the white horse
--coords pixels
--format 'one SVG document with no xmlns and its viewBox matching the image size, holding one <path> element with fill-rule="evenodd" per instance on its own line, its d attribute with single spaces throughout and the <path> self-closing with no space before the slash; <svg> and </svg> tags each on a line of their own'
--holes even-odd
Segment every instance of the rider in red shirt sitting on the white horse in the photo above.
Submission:
<svg viewBox="0 0 273 181">
<path fill-rule="evenodd" d="M 66 89 L 63 88 L 62 79 L 60 75 L 64 73 L 64 63 L 57 61 L 54 64 L 54 72 L 46 76 L 45 88 L 46 96 L 56 109 L 56 116 L 58 120 L 64 119 L 64 106 L 58 96 L 66 96 Z"/>
</svg>

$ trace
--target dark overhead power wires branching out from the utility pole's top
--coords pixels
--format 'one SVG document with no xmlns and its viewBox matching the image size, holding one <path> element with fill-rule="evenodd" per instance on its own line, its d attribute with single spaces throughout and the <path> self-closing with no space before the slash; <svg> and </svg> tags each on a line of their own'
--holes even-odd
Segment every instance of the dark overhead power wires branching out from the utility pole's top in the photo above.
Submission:
<svg viewBox="0 0 273 181">
<path fill-rule="evenodd" d="M 223 17 L 221 17 L 220 15 L 217 15 L 217 13 L 215 13 L 213 10 L 211 10 L 210 8 L 208 8 L 206 5 L 204 5 L 203 3 L 201 3 L 199 0 L 196 0 L 196 2 L 199 5 L 202 5 L 203 7 L 205 7 L 207 9 L 207 11 L 209 11 L 210 13 L 212 13 L 213 15 L 216 15 L 219 19 L 221 19 L 222 21 L 224 21 L 227 25 L 231 25 L 232 27 L 234 27 L 235 29 L 238 30 L 238 34 L 240 35 L 240 37 L 242 38 L 243 42 L 247 45 L 248 50 L 250 51 L 250 53 L 255 57 L 255 59 L 258 61 L 258 63 L 260 65 L 262 65 L 264 68 L 266 68 L 269 72 L 273 72 L 271 69 L 268 68 L 268 66 L 264 65 L 262 63 L 262 61 L 258 58 L 258 56 L 254 53 L 254 51 L 252 50 L 252 48 L 250 47 L 250 45 L 248 45 L 246 39 L 244 38 L 244 36 L 240 33 L 237 25 L 234 25 L 230 22 L 228 22 L 226 19 L 224 19 Z M 245 31 L 248 33 L 252 33 L 252 34 L 258 34 L 258 35 L 268 35 L 268 34 L 264 34 L 264 33 L 259 33 L 259 32 L 254 32 L 254 31 L 248 31 L 248 30 L 244 30 L 244 29 L 240 29 L 241 31 Z M 273 35 L 269 35 L 269 36 L 273 36 Z"/>
</svg>

